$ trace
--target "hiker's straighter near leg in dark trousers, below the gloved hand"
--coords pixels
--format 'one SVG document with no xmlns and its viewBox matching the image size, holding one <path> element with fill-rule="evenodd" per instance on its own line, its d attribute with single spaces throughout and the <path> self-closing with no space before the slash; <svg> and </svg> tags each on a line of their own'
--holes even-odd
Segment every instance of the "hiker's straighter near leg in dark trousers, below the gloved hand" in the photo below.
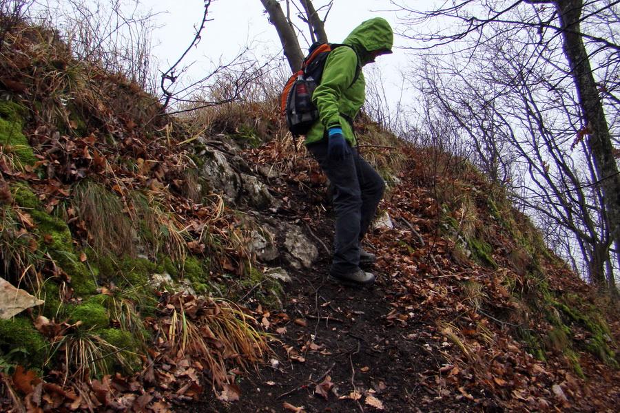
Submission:
<svg viewBox="0 0 620 413">
<path fill-rule="evenodd" d="M 327 140 L 308 146 L 333 187 L 335 213 L 334 255 L 330 273 L 353 273 L 359 270 L 362 191 L 358 182 L 353 149 L 343 161 L 329 160 Z"/>
</svg>

